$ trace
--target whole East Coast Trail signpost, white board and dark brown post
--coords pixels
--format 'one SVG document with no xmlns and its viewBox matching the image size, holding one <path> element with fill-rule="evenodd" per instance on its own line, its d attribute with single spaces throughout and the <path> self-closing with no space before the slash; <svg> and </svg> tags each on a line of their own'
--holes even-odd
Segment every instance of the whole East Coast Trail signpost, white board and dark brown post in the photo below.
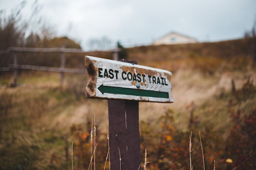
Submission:
<svg viewBox="0 0 256 170">
<path fill-rule="evenodd" d="M 86 97 L 108 99 L 111 169 L 141 169 L 139 101 L 174 102 L 171 72 L 91 56 L 85 57 L 85 65 Z"/>
</svg>

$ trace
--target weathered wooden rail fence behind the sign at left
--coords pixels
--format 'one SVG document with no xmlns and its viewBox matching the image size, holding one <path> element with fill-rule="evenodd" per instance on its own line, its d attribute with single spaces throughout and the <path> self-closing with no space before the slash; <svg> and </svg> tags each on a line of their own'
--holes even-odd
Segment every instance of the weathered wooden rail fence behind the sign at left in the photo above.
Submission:
<svg viewBox="0 0 256 170">
<path fill-rule="evenodd" d="M 8 50 L 0 51 L 0 54 L 12 54 L 13 64 L 9 64 L 8 67 L 0 68 L 0 71 L 13 71 L 14 79 L 11 84 L 12 87 L 17 86 L 17 72 L 18 69 L 28 69 L 28 70 L 39 70 L 39 71 L 51 71 L 60 73 L 60 86 L 63 84 L 64 73 L 85 73 L 86 69 L 72 69 L 65 68 L 66 65 L 66 53 L 92 53 L 92 52 L 110 52 L 112 53 L 113 60 L 118 60 L 118 52 L 120 49 L 116 48 L 108 51 L 83 51 L 81 49 L 75 48 L 27 48 L 27 47 L 10 47 Z M 17 52 L 31 52 L 31 53 L 60 53 L 60 67 L 45 67 L 45 66 L 33 66 L 33 65 L 18 65 L 17 62 Z"/>
</svg>

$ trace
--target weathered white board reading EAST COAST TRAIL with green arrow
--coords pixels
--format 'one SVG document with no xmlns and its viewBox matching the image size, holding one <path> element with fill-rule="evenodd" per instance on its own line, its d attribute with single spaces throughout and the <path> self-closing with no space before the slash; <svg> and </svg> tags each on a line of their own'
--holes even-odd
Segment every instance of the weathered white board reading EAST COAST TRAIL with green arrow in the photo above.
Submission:
<svg viewBox="0 0 256 170">
<path fill-rule="evenodd" d="M 169 71 L 92 56 L 85 57 L 85 66 L 87 98 L 174 102 Z"/>
</svg>

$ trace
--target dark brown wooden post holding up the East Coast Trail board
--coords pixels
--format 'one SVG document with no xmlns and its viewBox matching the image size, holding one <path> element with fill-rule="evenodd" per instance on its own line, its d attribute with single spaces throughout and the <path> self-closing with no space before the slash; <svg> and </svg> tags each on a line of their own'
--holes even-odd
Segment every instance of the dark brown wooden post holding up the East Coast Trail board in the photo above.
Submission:
<svg viewBox="0 0 256 170">
<path fill-rule="evenodd" d="M 139 102 L 113 99 L 108 100 L 108 107 L 111 170 L 120 169 L 120 156 L 122 170 L 140 170 Z"/>
</svg>

